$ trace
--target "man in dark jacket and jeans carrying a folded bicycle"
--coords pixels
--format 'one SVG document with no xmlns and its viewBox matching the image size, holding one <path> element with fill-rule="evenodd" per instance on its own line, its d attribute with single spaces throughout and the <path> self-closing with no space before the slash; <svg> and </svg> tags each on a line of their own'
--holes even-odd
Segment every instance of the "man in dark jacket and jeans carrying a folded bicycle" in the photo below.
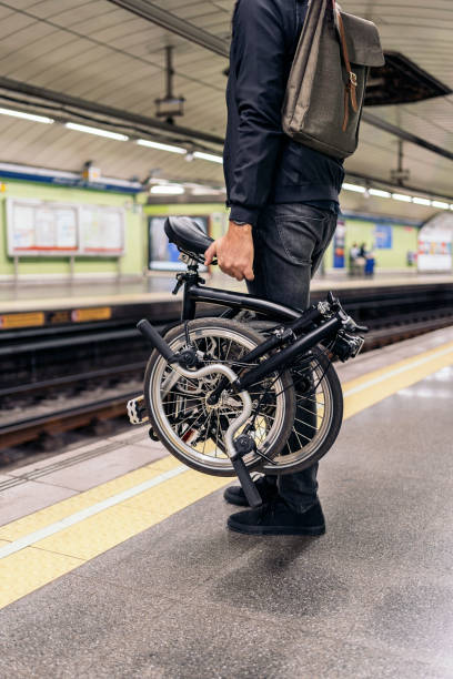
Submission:
<svg viewBox="0 0 453 679">
<path fill-rule="evenodd" d="M 228 233 L 205 253 L 258 296 L 309 305 L 310 280 L 332 239 L 344 178 L 341 163 L 286 136 L 281 125 L 285 85 L 308 0 L 239 0 L 234 7 L 228 124 L 223 153 Z M 233 514 L 232 530 L 254 535 L 320 535 L 318 464 L 264 476 L 259 509 Z M 225 499 L 248 506 L 240 487 Z"/>
</svg>

